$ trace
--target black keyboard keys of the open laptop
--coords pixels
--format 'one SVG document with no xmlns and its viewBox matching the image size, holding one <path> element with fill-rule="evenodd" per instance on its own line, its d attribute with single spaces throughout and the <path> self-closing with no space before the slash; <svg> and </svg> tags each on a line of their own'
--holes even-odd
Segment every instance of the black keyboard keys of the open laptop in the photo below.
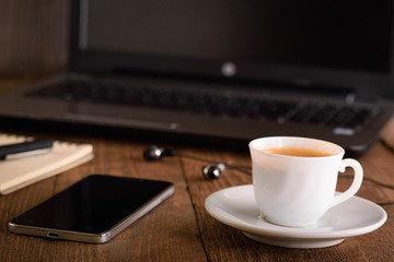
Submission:
<svg viewBox="0 0 394 262">
<path fill-rule="evenodd" d="M 370 107 L 239 97 L 220 93 L 70 80 L 27 94 L 62 100 L 162 108 L 218 117 L 325 124 L 356 130 L 372 117 Z"/>
</svg>

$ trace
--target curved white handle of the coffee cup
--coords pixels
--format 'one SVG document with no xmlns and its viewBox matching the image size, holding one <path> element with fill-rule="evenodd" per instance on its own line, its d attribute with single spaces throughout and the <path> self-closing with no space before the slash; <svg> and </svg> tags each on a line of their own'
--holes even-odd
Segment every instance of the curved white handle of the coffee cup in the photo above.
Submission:
<svg viewBox="0 0 394 262">
<path fill-rule="evenodd" d="M 337 205 L 352 198 L 361 187 L 363 170 L 360 163 L 351 158 L 346 158 L 340 162 L 339 171 L 344 172 L 346 167 L 351 167 L 355 170 L 354 181 L 351 186 L 348 188 L 348 190 L 334 196 L 334 200 L 331 203 L 329 207 L 333 207 L 334 205 Z"/>
</svg>

